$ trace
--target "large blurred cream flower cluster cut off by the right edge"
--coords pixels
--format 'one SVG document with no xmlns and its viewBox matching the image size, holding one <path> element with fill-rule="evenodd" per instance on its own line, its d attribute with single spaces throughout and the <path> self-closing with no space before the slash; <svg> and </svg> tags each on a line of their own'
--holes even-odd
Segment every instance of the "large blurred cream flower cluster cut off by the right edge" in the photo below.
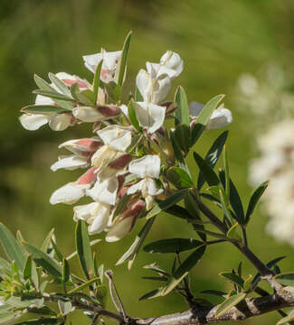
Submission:
<svg viewBox="0 0 294 325">
<path fill-rule="evenodd" d="M 258 141 L 261 157 L 251 162 L 250 181 L 270 179 L 264 207 L 270 215 L 268 231 L 294 246 L 294 120 L 271 126 Z"/>
</svg>

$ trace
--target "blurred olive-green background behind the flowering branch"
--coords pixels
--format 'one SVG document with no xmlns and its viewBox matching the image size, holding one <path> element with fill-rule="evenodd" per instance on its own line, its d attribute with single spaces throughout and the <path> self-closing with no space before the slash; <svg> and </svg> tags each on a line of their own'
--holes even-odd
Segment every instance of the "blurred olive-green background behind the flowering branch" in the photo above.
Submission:
<svg viewBox="0 0 294 325">
<path fill-rule="evenodd" d="M 177 51 L 185 61 L 183 74 L 175 79 L 189 100 L 206 102 L 216 94 L 227 94 L 226 107 L 234 117 L 228 141 L 232 177 L 247 204 L 251 188 L 247 184 L 248 161 L 256 154 L 258 130 L 251 116 L 237 107 L 233 98 L 236 80 L 244 72 L 255 73 L 268 61 L 275 61 L 293 75 L 294 3 L 292 0 L 1 0 L 0 4 L 0 220 L 11 230 L 21 229 L 24 237 L 40 245 L 51 228 L 64 254 L 74 245 L 72 209 L 51 206 L 53 190 L 75 180 L 80 172 L 50 170 L 58 156 L 57 145 L 72 138 L 90 136 L 90 127 L 77 126 L 65 132 L 52 132 L 48 126 L 36 132 L 24 130 L 17 117 L 21 107 L 34 100 L 33 73 L 43 78 L 49 71 L 66 71 L 91 78 L 81 56 L 100 51 L 118 51 L 129 30 L 133 30 L 128 62 L 128 82 L 136 78 L 147 60 L 157 61 L 166 50 Z M 173 92 L 170 93 L 170 98 Z M 256 107 L 258 109 L 258 107 Z M 277 107 L 279 109 L 279 107 Z M 203 135 L 197 144 L 207 151 L 220 130 Z M 293 266 L 293 248 L 277 243 L 265 230 L 267 217 L 261 209 L 250 225 L 250 245 L 263 261 L 288 255 L 280 263 L 282 270 Z M 140 224 L 141 225 L 141 224 Z M 139 225 L 139 226 L 140 226 Z M 115 262 L 131 243 L 132 236 L 119 243 L 100 244 L 100 263 L 115 271 L 119 292 L 128 313 L 151 317 L 166 312 L 184 311 L 185 302 L 170 295 L 138 302 L 156 283 L 141 280 L 149 275 L 142 266 L 157 261 L 169 267 L 172 256 L 141 253 L 133 269 Z M 157 218 L 147 242 L 164 237 L 191 237 L 194 233 L 171 216 Z M 194 270 L 194 290 L 226 289 L 218 276 L 222 271 L 244 263 L 244 272 L 255 274 L 232 246 L 209 247 Z M 109 308 L 110 303 L 109 303 Z M 273 324 L 275 313 L 247 320 L 245 324 Z M 87 324 L 77 315 L 75 324 Z"/>
</svg>

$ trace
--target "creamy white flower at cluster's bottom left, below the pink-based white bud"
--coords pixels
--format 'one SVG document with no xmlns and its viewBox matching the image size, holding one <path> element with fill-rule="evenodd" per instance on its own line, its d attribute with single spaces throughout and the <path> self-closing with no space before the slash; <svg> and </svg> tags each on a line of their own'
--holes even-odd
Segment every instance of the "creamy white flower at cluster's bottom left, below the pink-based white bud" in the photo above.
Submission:
<svg viewBox="0 0 294 325">
<path fill-rule="evenodd" d="M 90 226 L 88 228 L 89 234 L 100 234 L 105 230 L 109 223 L 111 216 L 111 208 L 107 204 L 100 202 L 92 202 L 73 208 L 73 219 L 85 220 Z"/>
</svg>

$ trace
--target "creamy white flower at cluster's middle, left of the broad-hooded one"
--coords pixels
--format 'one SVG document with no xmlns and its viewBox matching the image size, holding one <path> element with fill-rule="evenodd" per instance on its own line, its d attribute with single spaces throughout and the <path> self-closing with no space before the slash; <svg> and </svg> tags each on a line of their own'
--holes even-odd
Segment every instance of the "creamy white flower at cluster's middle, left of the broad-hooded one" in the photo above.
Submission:
<svg viewBox="0 0 294 325">
<path fill-rule="evenodd" d="M 124 126 L 109 125 L 97 134 L 104 145 L 93 154 L 91 163 L 99 169 L 118 158 L 120 153 L 125 153 L 132 141 L 130 129 Z"/>
</svg>

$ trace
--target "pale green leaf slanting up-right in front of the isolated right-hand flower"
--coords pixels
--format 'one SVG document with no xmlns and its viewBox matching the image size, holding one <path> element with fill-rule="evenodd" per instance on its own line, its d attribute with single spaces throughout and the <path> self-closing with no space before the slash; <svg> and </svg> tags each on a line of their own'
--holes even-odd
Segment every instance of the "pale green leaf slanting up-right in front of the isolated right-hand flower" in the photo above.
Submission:
<svg viewBox="0 0 294 325">
<path fill-rule="evenodd" d="M 204 132 L 204 128 L 208 123 L 210 117 L 213 115 L 213 110 L 219 105 L 224 95 L 218 95 L 212 98 L 203 108 L 197 117 L 194 127 L 192 129 L 191 146 L 196 143 L 200 135 Z"/>
</svg>

